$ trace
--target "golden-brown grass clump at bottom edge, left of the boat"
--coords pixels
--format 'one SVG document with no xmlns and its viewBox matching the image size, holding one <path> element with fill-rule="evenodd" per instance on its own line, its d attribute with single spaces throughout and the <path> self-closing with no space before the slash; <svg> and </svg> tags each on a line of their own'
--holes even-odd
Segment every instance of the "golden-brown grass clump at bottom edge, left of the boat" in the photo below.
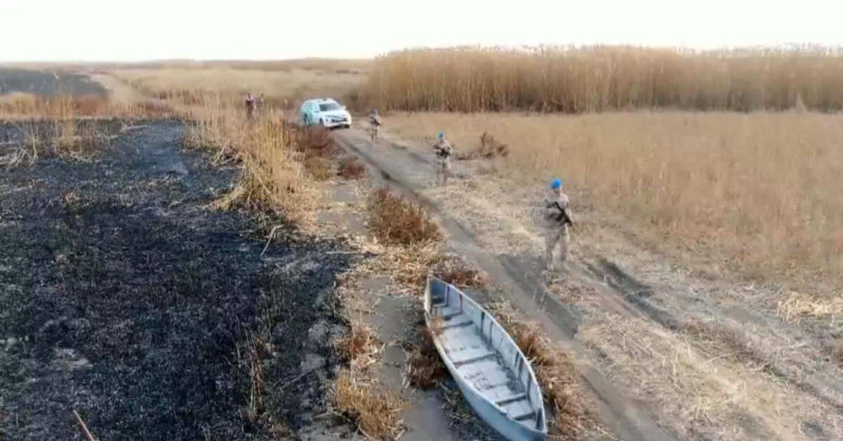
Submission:
<svg viewBox="0 0 843 441">
<path fill-rule="evenodd" d="M 338 410 L 368 438 L 395 439 L 400 435 L 400 413 L 406 404 L 400 395 L 376 380 L 362 379 L 353 370 L 341 369 L 333 394 Z"/>
</svg>

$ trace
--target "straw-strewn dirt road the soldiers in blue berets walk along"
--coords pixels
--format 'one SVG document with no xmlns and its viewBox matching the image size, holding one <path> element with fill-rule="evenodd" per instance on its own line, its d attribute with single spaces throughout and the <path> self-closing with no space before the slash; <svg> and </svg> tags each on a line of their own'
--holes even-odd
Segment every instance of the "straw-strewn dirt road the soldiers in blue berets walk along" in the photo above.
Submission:
<svg viewBox="0 0 843 441">
<path fill-rule="evenodd" d="M 389 136 L 373 145 L 360 130 L 338 137 L 379 180 L 435 213 L 454 250 L 572 352 L 615 437 L 840 434 L 843 373 L 822 342 L 839 325 L 784 322 L 775 304 L 748 304 L 768 298 L 764 288 L 671 261 L 582 206 L 583 223 L 595 226 L 575 242 L 568 270 L 549 278 L 540 272 L 540 234 L 524 215 L 535 191 L 497 182 L 482 164 L 457 164 L 459 179 L 438 189 L 425 146 Z"/>
</svg>

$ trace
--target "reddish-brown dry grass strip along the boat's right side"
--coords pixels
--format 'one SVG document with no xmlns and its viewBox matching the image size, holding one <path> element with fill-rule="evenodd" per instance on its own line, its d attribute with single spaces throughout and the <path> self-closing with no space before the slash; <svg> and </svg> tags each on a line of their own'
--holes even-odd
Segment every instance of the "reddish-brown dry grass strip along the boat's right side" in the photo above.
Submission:
<svg viewBox="0 0 843 441">
<path fill-rule="evenodd" d="M 590 422 L 582 391 L 577 385 L 577 368 L 566 352 L 555 347 L 538 324 L 525 322 L 509 304 L 496 304 L 497 320 L 529 358 L 545 401 L 556 412 L 551 431 L 561 439 L 578 439 Z"/>
</svg>

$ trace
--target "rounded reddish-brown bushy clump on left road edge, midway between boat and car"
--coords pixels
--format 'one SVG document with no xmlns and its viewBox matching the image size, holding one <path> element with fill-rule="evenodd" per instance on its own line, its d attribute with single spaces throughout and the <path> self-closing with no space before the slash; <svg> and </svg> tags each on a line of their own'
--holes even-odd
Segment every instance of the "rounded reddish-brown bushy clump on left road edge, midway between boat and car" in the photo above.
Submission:
<svg viewBox="0 0 843 441">
<path fill-rule="evenodd" d="M 384 244 L 418 245 L 443 239 L 439 226 L 423 208 L 387 189 L 373 191 L 368 212 L 369 231 Z"/>
</svg>

